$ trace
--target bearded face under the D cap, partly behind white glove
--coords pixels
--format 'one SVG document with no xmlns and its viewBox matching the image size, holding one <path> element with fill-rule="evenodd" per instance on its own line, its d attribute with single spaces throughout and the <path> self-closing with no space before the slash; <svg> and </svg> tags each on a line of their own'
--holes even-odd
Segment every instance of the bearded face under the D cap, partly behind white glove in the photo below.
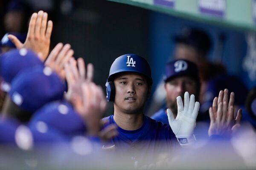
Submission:
<svg viewBox="0 0 256 170">
<path fill-rule="evenodd" d="M 184 103 L 184 94 L 189 92 L 189 95 L 196 94 L 197 84 L 195 80 L 187 76 L 175 77 L 165 84 L 167 107 L 177 114 L 177 96 L 181 96 Z"/>
</svg>

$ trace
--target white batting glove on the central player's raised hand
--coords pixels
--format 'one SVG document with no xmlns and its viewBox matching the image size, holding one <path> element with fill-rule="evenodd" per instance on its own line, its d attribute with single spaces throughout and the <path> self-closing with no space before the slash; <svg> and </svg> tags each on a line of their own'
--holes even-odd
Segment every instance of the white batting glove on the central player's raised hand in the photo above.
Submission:
<svg viewBox="0 0 256 170">
<path fill-rule="evenodd" d="M 195 129 L 195 121 L 198 115 L 200 104 L 195 102 L 195 96 L 192 94 L 189 99 L 189 93 L 184 94 L 184 107 L 180 96 L 177 97 L 177 117 L 174 119 L 173 113 L 167 109 L 169 125 L 180 145 L 189 145 L 195 142 L 193 135 Z"/>
</svg>

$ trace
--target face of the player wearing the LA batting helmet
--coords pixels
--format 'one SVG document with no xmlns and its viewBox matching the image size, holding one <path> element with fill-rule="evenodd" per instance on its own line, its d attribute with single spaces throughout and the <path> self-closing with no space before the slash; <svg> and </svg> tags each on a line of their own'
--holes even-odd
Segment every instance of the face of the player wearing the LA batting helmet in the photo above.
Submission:
<svg viewBox="0 0 256 170">
<path fill-rule="evenodd" d="M 120 74 L 114 79 L 116 112 L 135 114 L 143 112 L 148 98 L 148 83 L 144 76 L 137 73 Z"/>
</svg>

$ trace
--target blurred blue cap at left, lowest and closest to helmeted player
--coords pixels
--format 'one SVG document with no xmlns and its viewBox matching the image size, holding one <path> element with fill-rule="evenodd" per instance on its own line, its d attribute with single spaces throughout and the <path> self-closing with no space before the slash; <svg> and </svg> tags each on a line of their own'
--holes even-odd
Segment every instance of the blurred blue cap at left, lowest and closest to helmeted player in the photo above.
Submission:
<svg viewBox="0 0 256 170">
<path fill-rule="evenodd" d="M 45 124 L 66 136 L 83 135 L 86 131 L 84 120 L 69 102 L 55 101 L 34 113 L 29 127 Z"/>
</svg>

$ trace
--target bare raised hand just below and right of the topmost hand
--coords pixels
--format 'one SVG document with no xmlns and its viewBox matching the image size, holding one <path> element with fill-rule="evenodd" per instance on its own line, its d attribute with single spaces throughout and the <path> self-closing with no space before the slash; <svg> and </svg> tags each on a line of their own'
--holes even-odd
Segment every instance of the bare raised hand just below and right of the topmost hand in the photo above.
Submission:
<svg viewBox="0 0 256 170">
<path fill-rule="evenodd" d="M 70 44 L 65 44 L 63 46 L 62 43 L 58 43 L 55 48 L 52 49 L 49 57 L 45 61 L 45 65 L 52 68 L 61 79 L 66 78 L 64 65 L 72 58 L 74 51 L 70 49 Z M 73 61 L 76 62 L 75 59 Z"/>
</svg>

